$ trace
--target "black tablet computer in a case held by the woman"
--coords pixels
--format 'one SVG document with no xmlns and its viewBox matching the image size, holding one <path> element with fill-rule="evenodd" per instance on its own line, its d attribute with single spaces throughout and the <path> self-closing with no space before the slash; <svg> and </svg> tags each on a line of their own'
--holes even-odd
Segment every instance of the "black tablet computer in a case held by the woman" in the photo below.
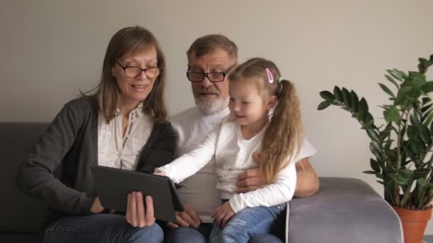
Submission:
<svg viewBox="0 0 433 243">
<path fill-rule="evenodd" d="M 127 194 L 140 191 L 143 196 L 152 196 L 158 220 L 176 222 L 175 212 L 184 211 L 176 188 L 167 176 L 104 166 L 90 166 L 90 170 L 96 193 L 105 208 L 126 212 Z"/>
</svg>

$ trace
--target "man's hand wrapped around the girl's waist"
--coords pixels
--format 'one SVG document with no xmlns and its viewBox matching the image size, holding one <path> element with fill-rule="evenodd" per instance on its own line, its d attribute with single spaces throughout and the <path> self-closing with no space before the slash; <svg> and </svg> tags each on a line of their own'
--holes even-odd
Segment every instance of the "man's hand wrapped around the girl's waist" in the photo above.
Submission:
<svg viewBox="0 0 433 243">
<path fill-rule="evenodd" d="M 260 154 L 253 153 L 254 161 L 261 163 Z M 263 175 L 260 168 L 249 169 L 238 176 L 236 193 L 248 193 L 264 186 Z"/>
</svg>

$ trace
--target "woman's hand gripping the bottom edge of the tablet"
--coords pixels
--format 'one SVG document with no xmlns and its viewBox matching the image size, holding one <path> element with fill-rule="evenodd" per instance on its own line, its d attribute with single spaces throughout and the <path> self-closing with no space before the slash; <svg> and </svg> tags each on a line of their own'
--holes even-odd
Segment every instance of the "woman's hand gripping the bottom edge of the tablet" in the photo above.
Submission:
<svg viewBox="0 0 433 243">
<path fill-rule="evenodd" d="M 143 203 L 143 195 L 140 192 L 132 192 L 127 195 L 126 221 L 133 227 L 147 227 L 155 223 L 153 200 L 146 196 L 146 207 Z"/>
</svg>

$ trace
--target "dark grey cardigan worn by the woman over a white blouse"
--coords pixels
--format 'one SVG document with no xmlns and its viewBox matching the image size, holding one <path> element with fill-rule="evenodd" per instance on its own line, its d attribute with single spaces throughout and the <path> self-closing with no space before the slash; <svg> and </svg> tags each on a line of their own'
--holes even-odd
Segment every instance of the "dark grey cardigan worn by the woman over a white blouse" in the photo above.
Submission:
<svg viewBox="0 0 433 243">
<path fill-rule="evenodd" d="M 68 102 L 19 168 L 17 187 L 48 204 L 48 221 L 60 215 L 90 214 L 96 196 L 90 166 L 98 163 L 96 104 L 95 97 Z M 171 124 L 155 124 L 140 152 L 137 171 L 152 173 L 172 161 L 176 142 Z"/>
</svg>

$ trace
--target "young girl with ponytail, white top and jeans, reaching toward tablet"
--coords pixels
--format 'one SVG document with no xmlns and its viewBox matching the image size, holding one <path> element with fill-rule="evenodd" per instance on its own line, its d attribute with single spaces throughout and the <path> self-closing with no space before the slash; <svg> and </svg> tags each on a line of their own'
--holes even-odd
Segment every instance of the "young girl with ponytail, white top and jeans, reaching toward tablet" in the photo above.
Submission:
<svg viewBox="0 0 433 243">
<path fill-rule="evenodd" d="M 268 233 L 293 197 L 294 163 L 315 153 L 313 148 L 303 148 L 295 88 L 283 80 L 274 63 L 253 58 L 239 65 L 229 74 L 229 95 L 229 119 L 198 148 L 156 169 L 179 183 L 215 156 L 216 187 L 224 203 L 214 212 L 210 242 L 248 242 L 255 234 Z M 261 163 L 253 160 L 254 151 L 260 152 Z M 236 194 L 237 176 L 258 166 L 267 185 Z"/>
</svg>

